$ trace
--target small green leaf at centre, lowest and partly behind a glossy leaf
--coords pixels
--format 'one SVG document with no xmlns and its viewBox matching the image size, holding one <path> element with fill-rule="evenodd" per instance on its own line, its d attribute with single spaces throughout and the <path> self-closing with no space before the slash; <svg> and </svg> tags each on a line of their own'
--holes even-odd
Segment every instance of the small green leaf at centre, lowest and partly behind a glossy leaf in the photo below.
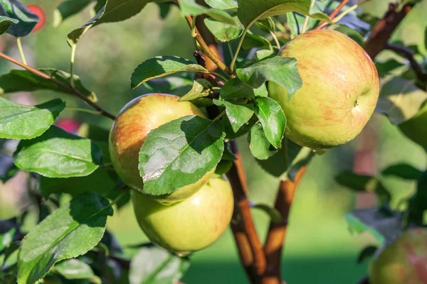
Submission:
<svg viewBox="0 0 427 284">
<path fill-rule="evenodd" d="M 277 149 L 271 145 L 265 137 L 264 129 L 260 121 L 251 128 L 248 135 L 249 149 L 252 155 L 258 160 L 266 160 L 277 153 Z"/>
</svg>

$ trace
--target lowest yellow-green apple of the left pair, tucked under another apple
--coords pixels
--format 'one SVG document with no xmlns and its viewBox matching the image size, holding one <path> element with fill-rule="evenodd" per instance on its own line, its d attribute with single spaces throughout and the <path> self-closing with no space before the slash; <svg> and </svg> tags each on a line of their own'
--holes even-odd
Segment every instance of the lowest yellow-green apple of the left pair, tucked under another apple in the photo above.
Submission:
<svg viewBox="0 0 427 284">
<path fill-rule="evenodd" d="M 164 249 L 185 256 L 216 241 L 233 214 L 233 191 L 228 180 L 212 178 L 188 199 L 171 205 L 133 190 L 132 204 L 142 231 Z"/>
</svg>

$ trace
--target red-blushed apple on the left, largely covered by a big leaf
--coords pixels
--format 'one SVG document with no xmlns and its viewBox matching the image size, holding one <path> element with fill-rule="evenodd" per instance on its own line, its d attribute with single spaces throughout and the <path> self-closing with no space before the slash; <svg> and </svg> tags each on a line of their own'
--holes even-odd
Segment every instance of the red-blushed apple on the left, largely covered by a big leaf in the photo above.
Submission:
<svg viewBox="0 0 427 284">
<path fill-rule="evenodd" d="M 112 124 L 109 149 L 112 165 L 123 182 L 142 192 L 144 182 L 139 175 L 139 150 L 149 131 L 182 116 L 203 112 L 191 102 L 179 102 L 170 94 L 146 94 L 133 99 L 120 111 Z M 215 168 L 192 185 L 181 187 L 169 195 L 152 196 L 163 202 L 175 202 L 199 190 L 214 173 Z"/>
</svg>

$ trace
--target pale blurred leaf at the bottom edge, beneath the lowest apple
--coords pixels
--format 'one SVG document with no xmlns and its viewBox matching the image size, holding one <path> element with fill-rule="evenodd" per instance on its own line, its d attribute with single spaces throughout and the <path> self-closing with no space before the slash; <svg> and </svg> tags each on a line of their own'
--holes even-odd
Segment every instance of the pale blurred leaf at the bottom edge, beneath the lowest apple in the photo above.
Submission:
<svg viewBox="0 0 427 284">
<path fill-rule="evenodd" d="M 130 262 L 130 284 L 177 283 L 189 266 L 188 258 L 157 246 L 145 246 Z"/>
</svg>

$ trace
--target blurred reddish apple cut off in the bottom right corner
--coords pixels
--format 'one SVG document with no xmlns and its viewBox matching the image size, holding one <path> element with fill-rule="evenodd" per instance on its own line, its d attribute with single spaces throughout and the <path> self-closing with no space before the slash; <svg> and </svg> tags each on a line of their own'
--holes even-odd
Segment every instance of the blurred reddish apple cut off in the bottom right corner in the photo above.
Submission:
<svg viewBox="0 0 427 284">
<path fill-rule="evenodd" d="M 413 228 L 369 266 L 371 284 L 426 284 L 427 229 Z"/>
</svg>

